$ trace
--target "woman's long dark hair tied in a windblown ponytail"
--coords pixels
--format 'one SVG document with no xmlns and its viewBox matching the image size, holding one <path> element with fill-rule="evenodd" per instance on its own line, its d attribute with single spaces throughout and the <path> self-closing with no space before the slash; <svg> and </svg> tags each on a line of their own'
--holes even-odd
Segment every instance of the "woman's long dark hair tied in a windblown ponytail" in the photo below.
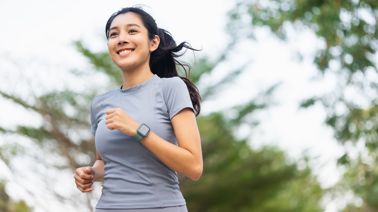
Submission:
<svg viewBox="0 0 378 212">
<path fill-rule="evenodd" d="M 190 65 L 186 62 L 178 61 L 176 59 L 184 55 L 187 49 L 193 51 L 198 50 L 192 48 L 187 42 L 182 42 L 179 45 L 176 45 L 176 42 L 173 40 L 171 33 L 169 33 L 167 30 L 157 28 L 155 19 L 150 14 L 145 12 L 141 7 L 125 7 L 111 15 L 105 27 L 107 39 L 109 39 L 110 24 L 113 21 L 114 17 L 126 13 L 134 13 L 141 18 L 143 25 L 148 30 L 148 38 L 150 40 L 154 39 L 155 35 L 159 36 L 160 38 L 160 44 L 158 45 L 157 49 L 151 53 L 150 57 L 150 69 L 153 74 L 156 74 L 161 78 L 169 78 L 173 76 L 179 76 L 176 65 L 179 65 L 184 69 L 185 74 L 188 75 L 188 78 L 186 76 L 179 77 L 185 82 L 188 87 L 191 103 L 195 110 L 196 116 L 198 116 L 201 110 L 201 96 L 197 87 L 189 80 Z M 184 49 L 183 52 L 180 52 L 183 48 L 186 49 Z"/>
</svg>

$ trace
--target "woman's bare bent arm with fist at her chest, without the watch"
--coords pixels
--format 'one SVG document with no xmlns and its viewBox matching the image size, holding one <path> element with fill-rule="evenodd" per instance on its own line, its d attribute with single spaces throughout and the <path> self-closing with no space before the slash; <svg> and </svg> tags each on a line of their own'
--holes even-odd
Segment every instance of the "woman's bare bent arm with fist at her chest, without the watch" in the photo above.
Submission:
<svg viewBox="0 0 378 212">
<path fill-rule="evenodd" d="M 116 129 L 128 136 L 136 135 L 140 123 L 132 120 L 125 111 L 114 108 L 108 109 L 107 114 L 105 123 L 110 130 Z M 203 161 L 201 138 L 193 110 L 189 107 L 182 109 L 173 116 L 171 123 L 178 146 L 154 132 L 142 138 L 141 143 L 166 166 L 192 180 L 198 180 L 202 174 Z M 97 158 L 101 158 L 98 152 Z"/>
</svg>

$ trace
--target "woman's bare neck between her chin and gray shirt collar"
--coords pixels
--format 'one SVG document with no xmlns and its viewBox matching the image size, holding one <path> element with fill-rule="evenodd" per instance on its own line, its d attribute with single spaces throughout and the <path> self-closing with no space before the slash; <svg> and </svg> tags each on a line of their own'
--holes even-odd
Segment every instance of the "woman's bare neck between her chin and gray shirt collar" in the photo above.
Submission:
<svg viewBox="0 0 378 212">
<path fill-rule="evenodd" d="M 139 70 L 122 70 L 122 76 L 124 80 L 124 85 L 122 89 L 130 88 L 139 85 L 148 79 L 150 79 L 154 74 L 152 74 L 150 67 L 139 69 Z"/>
</svg>

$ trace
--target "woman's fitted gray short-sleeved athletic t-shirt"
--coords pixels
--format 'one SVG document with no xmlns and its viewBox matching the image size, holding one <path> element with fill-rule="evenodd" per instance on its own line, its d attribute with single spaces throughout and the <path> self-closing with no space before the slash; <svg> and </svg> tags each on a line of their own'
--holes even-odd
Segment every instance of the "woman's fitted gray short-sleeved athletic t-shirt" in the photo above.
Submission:
<svg viewBox="0 0 378 212">
<path fill-rule="evenodd" d="M 179 77 L 152 76 L 146 82 L 96 96 L 91 104 L 92 134 L 105 163 L 105 181 L 98 209 L 161 208 L 185 205 L 177 173 L 131 136 L 109 130 L 106 110 L 122 108 L 155 134 L 177 145 L 171 119 L 193 106 Z"/>
</svg>

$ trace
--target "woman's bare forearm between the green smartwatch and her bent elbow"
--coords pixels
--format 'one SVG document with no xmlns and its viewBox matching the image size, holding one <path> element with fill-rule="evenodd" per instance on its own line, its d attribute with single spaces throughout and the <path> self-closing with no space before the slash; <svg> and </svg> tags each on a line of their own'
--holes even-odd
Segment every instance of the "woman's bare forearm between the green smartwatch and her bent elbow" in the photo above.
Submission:
<svg viewBox="0 0 378 212">
<path fill-rule="evenodd" d="M 200 178 L 203 170 L 201 152 L 190 152 L 162 139 L 154 132 L 150 132 L 148 136 L 141 140 L 141 143 L 174 171 L 192 180 Z"/>
</svg>

